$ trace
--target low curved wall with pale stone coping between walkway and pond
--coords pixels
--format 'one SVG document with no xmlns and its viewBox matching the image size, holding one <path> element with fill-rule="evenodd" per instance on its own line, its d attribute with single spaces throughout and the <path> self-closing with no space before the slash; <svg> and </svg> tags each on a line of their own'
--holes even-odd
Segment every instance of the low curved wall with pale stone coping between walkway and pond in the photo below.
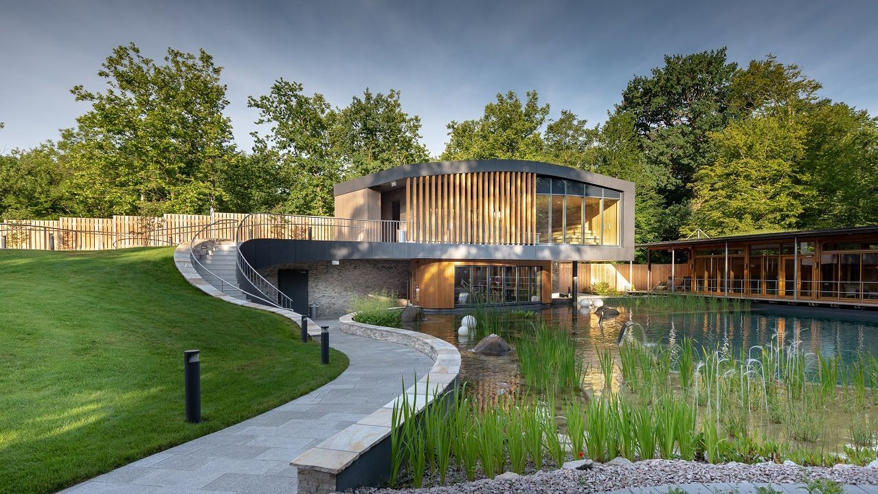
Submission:
<svg viewBox="0 0 878 494">
<path fill-rule="evenodd" d="M 408 403 L 420 412 L 432 401 L 457 386 L 460 353 L 447 341 L 425 333 L 355 322 L 353 314 L 339 318 L 342 333 L 399 343 L 433 359 L 427 376 L 405 390 Z M 299 469 L 299 491 L 325 494 L 360 485 L 378 485 L 390 473 L 390 433 L 393 405 L 403 395 L 324 440 L 291 462 Z"/>
</svg>

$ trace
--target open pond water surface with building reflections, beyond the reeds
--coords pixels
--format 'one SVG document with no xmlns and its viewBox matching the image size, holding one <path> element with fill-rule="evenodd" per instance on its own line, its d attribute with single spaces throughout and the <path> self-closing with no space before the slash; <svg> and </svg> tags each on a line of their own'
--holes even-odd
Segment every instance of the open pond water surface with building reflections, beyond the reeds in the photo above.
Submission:
<svg viewBox="0 0 878 494">
<path fill-rule="evenodd" d="M 629 320 L 637 325 L 625 334 L 626 338 L 667 345 L 679 343 L 688 336 L 696 347 L 718 348 L 724 356 L 738 357 L 753 346 L 769 342 L 788 346 L 793 341 L 801 341 L 805 352 L 824 357 L 839 355 L 846 363 L 853 362 L 858 353 L 878 354 L 878 319 L 858 319 L 847 313 L 814 315 L 782 308 L 745 312 L 668 313 L 643 308 L 620 308 L 619 311 L 618 316 L 604 319 L 602 325 L 599 317 L 587 309 L 557 307 L 539 313 L 549 324 L 572 333 L 579 355 L 590 364 L 584 384 L 592 392 L 600 392 L 606 385 L 612 390 L 619 388 L 618 369 L 612 383 L 603 382 L 597 350 L 612 348 L 615 352 L 622 326 Z M 432 334 L 461 349 L 461 375 L 474 396 L 493 401 L 499 395 L 522 390 L 515 352 L 496 357 L 468 351 L 479 341 L 458 337 L 457 327 L 464 315 L 427 314 L 426 319 L 410 329 Z M 515 341 L 510 343 L 515 345 Z M 815 363 L 815 359 L 810 359 L 812 372 Z"/>
</svg>

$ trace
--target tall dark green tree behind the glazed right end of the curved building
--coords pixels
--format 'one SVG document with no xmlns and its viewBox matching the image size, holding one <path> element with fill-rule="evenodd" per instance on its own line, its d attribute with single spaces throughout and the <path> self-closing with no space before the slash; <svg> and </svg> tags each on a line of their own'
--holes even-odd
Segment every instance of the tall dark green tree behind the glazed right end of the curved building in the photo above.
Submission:
<svg viewBox="0 0 878 494">
<path fill-rule="evenodd" d="M 666 168 L 673 180 L 663 195 L 667 204 L 690 196 L 687 184 L 696 170 L 713 161 L 709 132 L 729 119 L 729 82 L 737 65 L 726 49 L 665 56 L 665 66 L 649 77 L 635 76 L 615 111 L 630 112 L 651 164 Z"/>
</svg>

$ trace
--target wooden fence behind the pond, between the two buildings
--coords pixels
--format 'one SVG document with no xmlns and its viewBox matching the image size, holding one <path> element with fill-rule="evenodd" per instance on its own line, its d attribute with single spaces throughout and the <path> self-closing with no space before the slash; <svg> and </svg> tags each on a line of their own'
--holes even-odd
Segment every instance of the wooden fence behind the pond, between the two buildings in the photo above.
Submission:
<svg viewBox="0 0 878 494">
<path fill-rule="evenodd" d="M 674 277 L 687 276 L 689 267 L 687 264 L 674 266 Z M 608 283 L 611 288 L 619 291 L 651 290 L 659 283 L 666 283 L 671 277 L 670 264 L 653 264 L 651 273 L 646 264 L 628 263 L 579 263 L 579 291 L 596 283 Z M 558 290 L 567 291 L 572 286 L 572 264 L 562 262 L 558 264 Z"/>
</svg>

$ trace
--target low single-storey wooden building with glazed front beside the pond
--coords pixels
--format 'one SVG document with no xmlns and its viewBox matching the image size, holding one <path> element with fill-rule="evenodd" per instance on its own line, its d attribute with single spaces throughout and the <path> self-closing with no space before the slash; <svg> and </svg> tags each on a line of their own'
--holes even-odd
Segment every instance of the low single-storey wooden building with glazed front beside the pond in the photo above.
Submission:
<svg viewBox="0 0 878 494">
<path fill-rule="evenodd" d="M 878 305 L 878 226 L 644 244 L 673 271 L 652 290 L 792 304 Z"/>
</svg>

